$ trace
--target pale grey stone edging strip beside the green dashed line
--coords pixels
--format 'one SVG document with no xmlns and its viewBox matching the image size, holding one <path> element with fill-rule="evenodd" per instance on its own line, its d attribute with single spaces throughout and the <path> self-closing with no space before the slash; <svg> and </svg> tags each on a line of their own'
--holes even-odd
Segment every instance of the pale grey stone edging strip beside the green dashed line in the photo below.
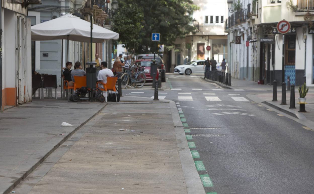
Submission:
<svg viewBox="0 0 314 194">
<path fill-rule="evenodd" d="M 179 157 L 181 161 L 181 167 L 183 171 L 183 177 L 185 179 L 185 184 L 187 186 L 187 193 L 203 193 L 205 194 L 205 189 L 203 187 L 202 181 L 196 170 L 194 160 L 190 148 L 187 144 L 187 138 L 185 136 L 184 128 L 174 101 L 168 100 L 173 124 L 175 126 L 175 134 L 177 147 L 179 152 Z"/>
</svg>

